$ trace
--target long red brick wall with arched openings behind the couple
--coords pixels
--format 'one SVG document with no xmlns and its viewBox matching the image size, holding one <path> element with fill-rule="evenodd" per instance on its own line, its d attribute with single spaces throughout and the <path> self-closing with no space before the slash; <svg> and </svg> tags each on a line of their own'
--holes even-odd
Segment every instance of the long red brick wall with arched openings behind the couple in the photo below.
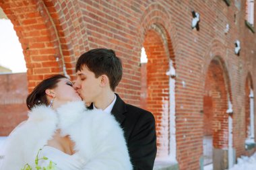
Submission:
<svg viewBox="0 0 256 170">
<path fill-rule="evenodd" d="M 62 73 L 63 61 L 67 73 L 73 79 L 75 60 L 79 54 L 91 48 L 113 48 L 123 60 L 124 67 L 123 79 L 117 92 L 125 101 L 139 105 L 141 47 L 154 24 L 164 28 L 166 34 L 160 36 L 161 40 L 164 40 L 164 50 L 161 51 L 166 53 L 161 55 L 174 59 L 174 67 L 177 71 L 176 137 L 177 161 L 181 170 L 199 169 L 203 148 L 201 112 L 204 105 L 205 80 L 212 59 L 216 56 L 222 58 L 222 65 L 225 65 L 226 69 L 222 68 L 221 73 L 228 77 L 230 87 L 218 89 L 220 85 L 224 85 L 220 83 L 212 89 L 218 89 L 219 93 L 221 91 L 224 95 L 226 95 L 224 89 L 230 91 L 234 110 L 233 144 L 236 148 L 236 156 L 245 153 L 245 79 L 248 73 L 251 73 L 251 77 L 255 77 L 256 71 L 253 69 L 256 54 L 255 34 L 245 26 L 245 1 L 231 1 L 228 7 L 224 1 L 199 0 L 0 0 L 0 6 L 11 19 L 22 43 L 28 67 L 29 91 L 46 75 Z M 193 10 L 200 13 L 199 32 L 191 30 Z M 230 24 L 228 34 L 224 34 L 226 24 Z M 236 39 L 241 41 L 240 56 L 234 54 Z M 57 57 L 59 57 L 58 62 Z M 168 68 L 164 69 L 165 63 L 162 65 L 158 67 L 159 73 L 156 71 L 156 74 L 161 75 L 162 81 L 167 82 L 168 78 L 164 77 L 164 74 Z M 148 72 L 148 75 L 150 74 L 153 72 Z M 156 79 L 154 76 L 147 78 Z M 153 80 L 151 81 L 156 81 Z M 255 79 L 252 81 L 255 84 Z M 166 84 L 156 86 L 159 88 L 154 88 L 158 90 L 164 88 L 164 95 L 168 93 Z M 212 93 L 217 96 L 218 91 Z M 152 110 L 154 109 L 157 120 L 158 150 L 165 152 L 168 128 L 163 127 L 168 126 L 166 125 L 168 121 L 165 119 L 167 117 L 163 117 L 162 121 L 160 115 L 165 114 L 167 110 L 160 112 L 162 92 L 160 94 L 156 92 L 156 96 L 158 98 L 154 102 L 159 106 Z M 222 97 L 226 98 L 226 96 L 220 98 Z M 216 105 L 213 107 L 217 107 L 218 110 L 223 110 L 220 113 L 221 118 L 226 115 L 224 113 L 226 102 L 219 105 L 218 102 L 213 101 L 213 105 Z M 222 127 L 226 127 L 225 121 L 226 119 L 220 123 Z M 223 130 L 220 130 L 220 134 L 226 133 L 226 128 Z M 220 141 L 224 141 L 220 146 L 226 144 L 226 138 L 220 138 Z"/>
</svg>

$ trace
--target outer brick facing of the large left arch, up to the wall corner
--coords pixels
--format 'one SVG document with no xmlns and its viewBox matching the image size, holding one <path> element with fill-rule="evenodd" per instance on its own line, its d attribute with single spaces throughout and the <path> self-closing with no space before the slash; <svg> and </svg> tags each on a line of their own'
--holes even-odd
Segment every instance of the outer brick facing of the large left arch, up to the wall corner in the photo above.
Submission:
<svg viewBox="0 0 256 170">
<path fill-rule="evenodd" d="M 44 3 L 57 29 L 67 73 L 74 79 L 77 57 L 90 49 L 84 17 L 79 7 L 84 4 L 77 0 L 69 3 L 44 0 Z"/>
</svg>

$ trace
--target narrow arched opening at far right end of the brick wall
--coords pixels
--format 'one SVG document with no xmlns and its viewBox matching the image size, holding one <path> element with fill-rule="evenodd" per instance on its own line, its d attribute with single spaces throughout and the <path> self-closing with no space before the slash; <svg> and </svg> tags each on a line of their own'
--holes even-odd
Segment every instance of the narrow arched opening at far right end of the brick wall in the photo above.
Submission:
<svg viewBox="0 0 256 170">
<path fill-rule="evenodd" d="M 251 150 L 255 145 L 255 116 L 253 79 L 248 73 L 245 81 L 245 149 Z M 254 150 L 253 150 L 254 151 Z M 249 155 L 251 155 L 249 153 Z"/>
</svg>

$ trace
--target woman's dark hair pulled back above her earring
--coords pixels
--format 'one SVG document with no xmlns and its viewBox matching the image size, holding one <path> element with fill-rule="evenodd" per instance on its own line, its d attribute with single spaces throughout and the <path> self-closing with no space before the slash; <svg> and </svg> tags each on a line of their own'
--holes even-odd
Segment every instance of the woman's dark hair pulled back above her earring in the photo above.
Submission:
<svg viewBox="0 0 256 170">
<path fill-rule="evenodd" d="M 57 83 L 60 79 L 67 79 L 64 75 L 53 75 L 41 81 L 33 91 L 28 95 L 26 103 L 29 110 L 31 110 L 35 105 L 49 105 L 47 100 L 45 90 L 54 89 L 57 87 Z M 65 93 L 65 91 L 63 91 Z"/>
</svg>

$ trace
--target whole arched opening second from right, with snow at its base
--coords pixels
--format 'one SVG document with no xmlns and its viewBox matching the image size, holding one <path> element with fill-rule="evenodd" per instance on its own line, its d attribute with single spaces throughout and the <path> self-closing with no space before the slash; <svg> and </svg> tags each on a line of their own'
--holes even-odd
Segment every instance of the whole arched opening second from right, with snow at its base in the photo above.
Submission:
<svg viewBox="0 0 256 170">
<path fill-rule="evenodd" d="M 226 149 L 228 148 L 228 150 Z M 228 155 L 228 157 L 226 157 Z M 232 93 L 224 60 L 215 56 L 207 68 L 203 96 L 203 159 L 214 169 L 232 162 Z M 232 166 L 232 165 L 230 165 Z"/>
</svg>

